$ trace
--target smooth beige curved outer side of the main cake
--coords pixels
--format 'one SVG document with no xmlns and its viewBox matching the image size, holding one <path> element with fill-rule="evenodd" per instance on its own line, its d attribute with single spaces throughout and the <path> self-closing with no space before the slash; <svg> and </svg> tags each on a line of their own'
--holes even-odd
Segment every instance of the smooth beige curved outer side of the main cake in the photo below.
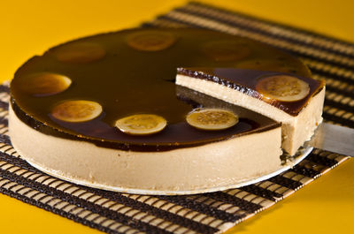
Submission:
<svg viewBox="0 0 354 234">
<path fill-rule="evenodd" d="M 164 152 L 123 151 L 46 135 L 24 124 L 12 109 L 9 128 L 15 149 L 40 170 L 119 192 L 212 191 L 281 168 L 281 127 Z"/>
</svg>

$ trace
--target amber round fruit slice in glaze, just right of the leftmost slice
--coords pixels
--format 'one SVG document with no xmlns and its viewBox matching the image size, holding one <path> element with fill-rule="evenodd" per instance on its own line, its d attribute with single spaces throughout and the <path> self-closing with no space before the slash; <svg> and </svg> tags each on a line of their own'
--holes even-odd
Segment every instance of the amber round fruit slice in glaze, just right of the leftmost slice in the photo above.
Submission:
<svg viewBox="0 0 354 234">
<path fill-rule="evenodd" d="M 85 122 L 98 117 L 102 106 L 97 102 L 86 100 L 65 101 L 51 110 L 51 115 L 65 122 Z"/>
</svg>

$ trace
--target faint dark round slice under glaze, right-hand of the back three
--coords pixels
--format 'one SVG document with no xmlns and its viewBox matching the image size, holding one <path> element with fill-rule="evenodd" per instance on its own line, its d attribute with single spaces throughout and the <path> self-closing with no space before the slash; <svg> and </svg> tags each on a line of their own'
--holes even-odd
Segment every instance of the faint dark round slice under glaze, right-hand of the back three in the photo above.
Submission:
<svg viewBox="0 0 354 234">
<path fill-rule="evenodd" d="M 237 61 L 250 55 L 245 43 L 227 40 L 206 42 L 202 45 L 202 51 L 205 56 L 219 62 Z"/>
</svg>

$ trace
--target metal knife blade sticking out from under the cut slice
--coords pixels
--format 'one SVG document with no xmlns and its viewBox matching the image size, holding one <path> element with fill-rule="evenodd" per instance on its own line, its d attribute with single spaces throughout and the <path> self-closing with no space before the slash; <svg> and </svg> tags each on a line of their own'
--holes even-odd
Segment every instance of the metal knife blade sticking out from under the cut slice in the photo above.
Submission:
<svg viewBox="0 0 354 234">
<path fill-rule="evenodd" d="M 322 123 L 305 145 L 354 157 L 354 129 Z"/>
</svg>

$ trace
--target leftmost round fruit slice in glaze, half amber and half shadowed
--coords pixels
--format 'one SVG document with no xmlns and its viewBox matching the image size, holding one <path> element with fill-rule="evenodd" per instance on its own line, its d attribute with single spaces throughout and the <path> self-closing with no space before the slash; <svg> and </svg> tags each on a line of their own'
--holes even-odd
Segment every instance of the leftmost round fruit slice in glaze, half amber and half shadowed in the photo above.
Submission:
<svg viewBox="0 0 354 234">
<path fill-rule="evenodd" d="M 71 84 L 72 80 L 64 75 L 41 72 L 25 77 L 20 88 L 30 95 L 49 96 L 65 91 Z"/>
</svg>

